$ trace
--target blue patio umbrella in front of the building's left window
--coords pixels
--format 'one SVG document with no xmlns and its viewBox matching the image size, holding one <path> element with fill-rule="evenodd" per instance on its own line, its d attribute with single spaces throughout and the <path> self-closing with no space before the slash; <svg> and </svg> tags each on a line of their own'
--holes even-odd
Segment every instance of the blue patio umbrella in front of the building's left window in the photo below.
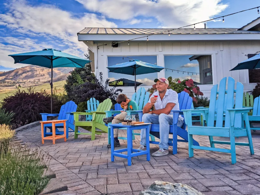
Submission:
<svg viewBox="0 0 260 195">
<path fill-rule="evenodd" d="M 138 59 L 131 59 L 129 62 L 124 62 L 121 64 L 116 64 L 107 67 L 109 72 L 120 73 L 125 75 L 135 75 L 135 92 L 136 92 L 136 75 L 143 75 L 153 72 L 160 72 L 165 69 L 161 66 L 156 66 L 147 62 L 140 61 Z"/>
</svg>

